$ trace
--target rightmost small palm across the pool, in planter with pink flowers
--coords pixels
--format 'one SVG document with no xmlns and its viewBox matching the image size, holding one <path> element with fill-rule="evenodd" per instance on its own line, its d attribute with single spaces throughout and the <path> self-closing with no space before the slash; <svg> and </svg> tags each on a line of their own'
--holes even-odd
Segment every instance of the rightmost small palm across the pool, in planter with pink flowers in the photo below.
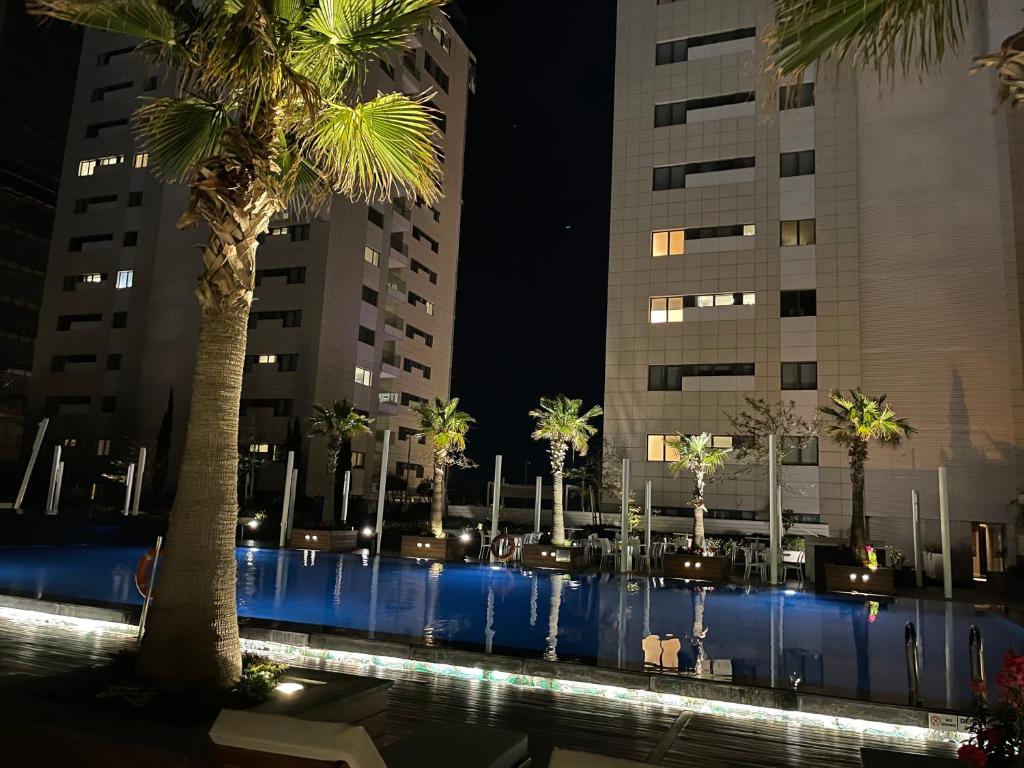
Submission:
<svg viewBox="0 0 1024 768">
<path fill-rule="evenodd" d="M 864 559 L 864 464 L 871 440 L 896 447 L 900 440 L 918 430 L 906 419 L 896 417 L 886 396 L 869 397 L 859 389 L 849 396 L 838 390 L 828 393 L 833 408 L 821 413 L 831 419 L 825 432 L 847 450 L 850 457 L 850 484 L 853 486 L 853 517 L 850 520 L 850 548 Z"/>
</svg>

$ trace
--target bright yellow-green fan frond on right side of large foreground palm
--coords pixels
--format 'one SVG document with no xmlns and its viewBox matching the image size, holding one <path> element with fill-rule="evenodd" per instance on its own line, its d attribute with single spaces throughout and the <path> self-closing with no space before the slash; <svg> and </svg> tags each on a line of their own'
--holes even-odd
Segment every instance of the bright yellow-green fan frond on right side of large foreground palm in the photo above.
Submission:
<svg viewBox="0 0 1024 768">
<path fill-rule="evenodd" d="M 395 187 L 426 202 L 440 196 L 436 128 L 422 98 L 387 93 L 354 105 L 331 104 L 299 141 L 303 156 L 349 198 L 378 200 Z"/>
</svg>

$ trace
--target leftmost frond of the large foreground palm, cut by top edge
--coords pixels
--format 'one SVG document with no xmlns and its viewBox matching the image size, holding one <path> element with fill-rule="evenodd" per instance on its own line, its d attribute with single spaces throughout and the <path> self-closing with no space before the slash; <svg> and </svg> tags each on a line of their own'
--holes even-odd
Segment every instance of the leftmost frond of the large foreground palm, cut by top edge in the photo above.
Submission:
<svg viewBox="0 0 1024 768">
<path fill-rule="evenodd" d="M 164 45 L 176 42 L 175 17 L 160 0 L 29 0 L 34 15 L 117 32 Z"/>
</svg>

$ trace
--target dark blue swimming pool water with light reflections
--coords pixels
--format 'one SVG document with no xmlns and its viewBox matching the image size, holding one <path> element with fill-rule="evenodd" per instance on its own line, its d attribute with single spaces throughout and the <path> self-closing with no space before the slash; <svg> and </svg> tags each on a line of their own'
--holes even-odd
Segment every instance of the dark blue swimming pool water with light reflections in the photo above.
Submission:
<svg viewBox="0 0 1024 768">
<path fill-rule="evenodd" d="M 141 552 L 0 548 L 0 592 L 138 604 L 134 569 Z M 908 621 L 921 638 L 926 706 L 969 705 L 972 624 L 981 628 L 990 676 L 1006 648 L 1024 649 L 1024 628 L 963 603 L 872 603 L 676 580 L 293 550 L 240 549 L 238 563 L 243 616 L 636 670 L 644 669 L 644 638 L 648 660 L 660 655 L 671 668 L 674 636 L 683 673 L 778 687 L 799 679 L 801 690 L 894 703 L 906 700 Z"/>
</svg>

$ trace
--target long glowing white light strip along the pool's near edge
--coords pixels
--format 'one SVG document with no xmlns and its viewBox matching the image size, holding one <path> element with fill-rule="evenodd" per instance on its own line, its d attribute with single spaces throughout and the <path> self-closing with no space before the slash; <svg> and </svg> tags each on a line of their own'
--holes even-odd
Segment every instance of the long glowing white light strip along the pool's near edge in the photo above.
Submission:
<svg viewBox="0 0 1024 768">
<path fill-rule="evenodd" d="M 95 618 L 78 618 L 54 613 L 44 613 L 20 608 L 0 607 L 0 618 L 8 618 L 17 624 L 35 624 L 38 626 L 63 627 L 74 629 L 84 635 L 117 635 L 133 636 L 136 633 L 134 625 L 103 622 Z M 421 662 L 412 658 L 397 658 L 369 653 L 353 653 L 348 651 L 326 650 L 321 648 L 299 647 L 284 643 L 269 643 L 257 640 L 242 639 L 242 647 L 247 651 L 271 655 L 281 662 L 299 664 L 301 662 L 336 662 L 365 669 L 391 670 L 397 672 L 421 672 L 442 677 L 457 678 L 467 682 L 490 682 L 511 685 L 516 688 L 536 688 L 552 690 L 559 693 L 581 696 L 599 696 L 620 701 L 637 703 L 653 703 L 677 710 L 694 712 L 701 715 L 719 715 L 744 720 L 775 722 L 785 725 L 813 725 L 819 728 L 865 733 L 890 738 L 926 739 L 930 741 L 961 741 L 966 733 L 953 730 L 937 730 L 914 725 L 893 725 L 870 720 L 818 715 L 809 712 L 793 710 L 774 710 L 767 707 L 732 703 L 729 701 L 712 701 L 705 698 L 691 698 L 675 693 L 660 693 L 639 688 L 622 688 L 612 685 L 597 685 L 580 683 L 570 680 L 557 680 L 537 675 L 520 675 L 498 670 L 484 670 L 478 667 L 456 667 L 434 662 Z"/>
</svg>

